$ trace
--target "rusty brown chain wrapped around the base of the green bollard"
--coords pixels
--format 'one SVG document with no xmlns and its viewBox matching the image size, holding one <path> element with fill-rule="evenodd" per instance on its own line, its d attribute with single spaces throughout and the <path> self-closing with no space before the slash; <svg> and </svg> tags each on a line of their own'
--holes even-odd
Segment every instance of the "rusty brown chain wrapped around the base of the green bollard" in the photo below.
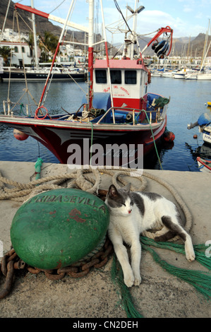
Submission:
<svg viewBox="0 0 211 332">
<path fill-rule="evenodd" d="M 11 292 L 13 285 L 13 279 L 15 275 L 15 270 L 20 270 L 26 268 L 28 272 L 37 274 L 44 272 L 47 278 L 50 280 L 60 280 L 64 278 L 66 274 L 70 275 L 72 278 L 81 278 L 90 272 L 90 268 L 102 268 L 107 261 L 108 256 L 113 252 L 113 246 L 107 237 L 104 246 L 100 251 L 97 252 L 91 259 L 87 261 L 79 261 L 78 263 L 73 263 L 71 266 L 66 266 L 64 268 L 54 269 L 54 270 L 44 270 L 40 268 L 35 268 L 28 266 L 24 261 L 22 261 L 16 251 L 11 249 L 8 251 L 4 257 L 1 259 L 0 263 L 0 275 L 1 273 L 6 277 L 4 287 L 0 290 L 0 300 L 3 299 Z"/>
</svg>

